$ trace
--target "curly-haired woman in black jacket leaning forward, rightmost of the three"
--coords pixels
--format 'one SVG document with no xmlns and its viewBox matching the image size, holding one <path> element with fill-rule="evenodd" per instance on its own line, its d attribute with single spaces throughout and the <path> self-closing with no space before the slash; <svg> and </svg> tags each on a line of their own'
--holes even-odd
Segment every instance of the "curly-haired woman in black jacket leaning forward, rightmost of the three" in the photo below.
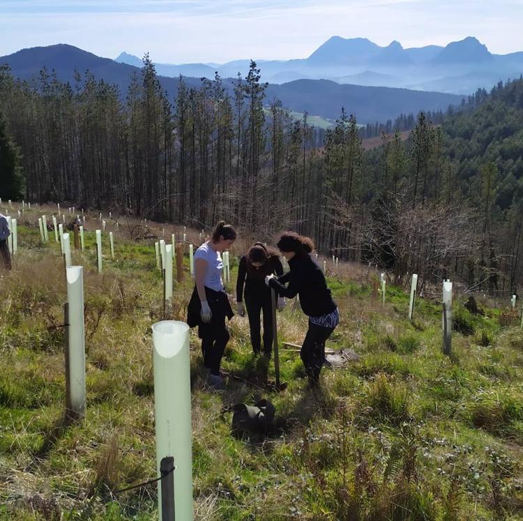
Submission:
<svg viewBox="0 0 523 521">
<path fill-rule="evenodd" d="M 280 296 L 288 299 L 296 294 L 299 296 L 301 309 L 309 317 L 300 356 L 310 386 L 317 387 L 321 365 L 324 363 L 325 342 L 340 322 L 338 306 L 333 301 L 323 271 L 310 255 L 314 243 L 309 237 L 285 232 L 278 241 L 278 248 L 289 262 L 290 271 L 279 278 L 267 275 L 265 282 Z"/>
</svg>

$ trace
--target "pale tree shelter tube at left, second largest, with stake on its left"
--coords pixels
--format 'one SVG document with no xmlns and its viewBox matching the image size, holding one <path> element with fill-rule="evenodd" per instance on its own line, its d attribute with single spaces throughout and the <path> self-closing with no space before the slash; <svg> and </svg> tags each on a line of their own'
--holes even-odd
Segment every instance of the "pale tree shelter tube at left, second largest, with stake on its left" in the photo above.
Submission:
<svg viewBox="0 0 523 521">
<path fill-rule="evenodd" d="M 70 266 L 67 275 L 69 304 L 69 396 L 70 408 L 84 416 L 85 401 L 85 338 L 84 338 L 84 269 Z"/>
</svg>

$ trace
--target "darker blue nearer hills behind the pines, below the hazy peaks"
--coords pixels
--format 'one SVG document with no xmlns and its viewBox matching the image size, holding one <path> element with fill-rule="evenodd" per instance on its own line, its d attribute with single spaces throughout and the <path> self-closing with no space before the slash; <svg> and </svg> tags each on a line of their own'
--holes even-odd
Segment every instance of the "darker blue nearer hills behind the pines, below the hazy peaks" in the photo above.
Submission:
<svg viewBox="0 0 523 521">
<path fill-rule="evenodd" d="M 50 72 L 54 70 L 59 80 L 73 85 L 75 70 L 81 74 L 89 70 L 99 80 L 117 84 L 122 98 L 126 96 L 132 74 L 139 76 L 140 70 L 137 66 L 142 66 L 141 60 L 135 59 L 132 65 L 116 63 L 111 59 L 100 58 L 65 44 L 20 50 L 9 56 L 0 57 L 0 64 L 3 63 L 10 66 L 15 77 L 24 80 L 38 78 L 40 69 L 45 66 Z M 238 62 L 237 65 L 236 70 L 240 70 L 245 76 L 249 62 Z M 263 70 L 264 63 L 259 63 L 259 66 Z M 160 70 L 160 66 L 158 69 Z M 236 77 L 236 70 L 230 76 Z M 369 74 L 372 77 L 372 73 Z M 178 89 L 179 81 L 165 75 L 159 75 L 158 79 L 172 99 Z M 375 79 L 379 81 L 379 76 Z M 201 85 L 200 77 L 184 76 L 183 80 L 190 87 L 197 88 Z M 232 80 L 226 79 L 225 85 L 232 93 Z M 356 115 L 359 123 L 386 121 L 395 119 L 400 114 L 410 112 L 417 114 L 420 110 L 446 110 L 448 105 L 459 105 L 462 100 L 462 96 L 448 93 L 339 84 L 331 80 L 309 79 L 269 84 L 266 90 L 266 103 L 271 103 L 274 98 L 279 98 L 285 107 L 294 112 L 307 111 L 311 116 L 321 116 L 329 120 L 338 118 L 341 108 L 345 107 L 349 114 Z"/>
</svg>

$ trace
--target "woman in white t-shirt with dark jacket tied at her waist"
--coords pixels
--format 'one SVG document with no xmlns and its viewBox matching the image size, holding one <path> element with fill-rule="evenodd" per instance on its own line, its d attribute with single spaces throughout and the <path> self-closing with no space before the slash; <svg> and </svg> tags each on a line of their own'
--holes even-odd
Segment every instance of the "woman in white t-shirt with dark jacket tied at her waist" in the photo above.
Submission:
<svg viewBox="0 0 523 521">
<path fill-rule="evenodd" d="M 204 365 L 209 369 L 209 385 L 221 388 L 220 364 L 229 332 L 225 317 L 232 319 L 229 299 L 222 282 L 223 263 L 221 253 L 236 240 L 236 230 L 224 221 L 218 222 L 210 241 L 203 243 L 195 252 L 195 289 L 187 309 L 190 327 L 198 326 L 202 339 Z"/>
</svg>

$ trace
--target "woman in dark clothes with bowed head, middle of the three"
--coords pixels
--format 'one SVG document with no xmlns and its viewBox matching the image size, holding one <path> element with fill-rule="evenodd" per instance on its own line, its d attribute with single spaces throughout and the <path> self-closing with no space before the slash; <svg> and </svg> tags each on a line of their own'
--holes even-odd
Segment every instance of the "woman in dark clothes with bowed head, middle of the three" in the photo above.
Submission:
<svg viewBox="0 0 523 521">
<path fill-rule="evenodd" d="M 260 312 L 264 314 L 264 354 L 271 356 L 273 345 L 273 322 L 271 290 L 265 285 L 266 275 L 283 275 L 280 257 L 276 252 L 268 250 L 262 243 L 255 243 L 243 255 L 238 265 L 238 280 L 236 282 L 236 306 L 238 315 L 245 316 L 243 294 L 249 317 L 250 342 L 252 351 L 259 354 L 261 349 Z M 245 290 L 243 286 L 245 285 Z M 278 310 L 285 306 L 285 299 L 278 299 Z"/>
</svg>

